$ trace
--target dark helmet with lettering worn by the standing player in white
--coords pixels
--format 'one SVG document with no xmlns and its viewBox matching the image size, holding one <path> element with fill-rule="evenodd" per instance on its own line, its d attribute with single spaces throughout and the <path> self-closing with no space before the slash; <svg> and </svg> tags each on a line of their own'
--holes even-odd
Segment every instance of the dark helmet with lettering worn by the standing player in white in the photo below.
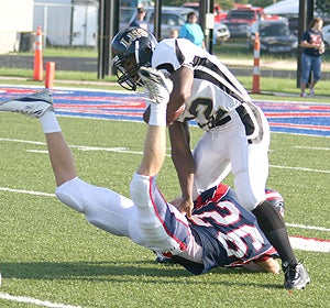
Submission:
<svg viewBox="0 0 330 308">
<path fill-rule="evenodd" d="M 118 84 L 128 90 L 142 86 L 138 70 L 141 66 L 151 66 L 153 51 L 157 45 L 155 36 L 141 28 L 128 28 L 112 40 L 112 66 Z"/>
</svg>

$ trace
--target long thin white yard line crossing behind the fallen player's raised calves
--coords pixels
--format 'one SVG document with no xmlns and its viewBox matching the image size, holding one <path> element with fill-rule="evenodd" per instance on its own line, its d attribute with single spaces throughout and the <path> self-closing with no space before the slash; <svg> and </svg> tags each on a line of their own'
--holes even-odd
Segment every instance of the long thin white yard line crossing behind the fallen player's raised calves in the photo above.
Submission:
<svg viewBox="0 0 330 308">
<path fill-rule="evenodd" d="M 45 145 L 46 146 L 46 143 L 44 143 L 44 142 L 29 141 L 29 140 L 0 138 L 0 141 L 20 142 L 20 143 L 28 143 L 28 144 L 38 144 L 38 145 Z M 97 147 L 97 146 L 85 146 L 85 145 L 69 145 L 69 147 L 78 148 L 80 151 L 108 151 L 108 152 L 139 154 L 139 155 L 143 154 L 143 152 L 129 151 L 125 147 Z M 36 152 L 36 153 L 44 153 L 44 152 L 40 152 L 37 150 L 28 150 L 28 151 Z M 166 156 L 169 156 L 169 155 L 166 155 Z M 295 170 L 304 170 L 304 172 L 314 172 L 314 173 L 327 173 L 327 174 L 330 173 L 330 170 L 301 168 L 301 167 L 289 167 L 289 166 L 270 165 L 270 167 L 282 168 L 282 169 L 295 169 Z"/>
</svg>

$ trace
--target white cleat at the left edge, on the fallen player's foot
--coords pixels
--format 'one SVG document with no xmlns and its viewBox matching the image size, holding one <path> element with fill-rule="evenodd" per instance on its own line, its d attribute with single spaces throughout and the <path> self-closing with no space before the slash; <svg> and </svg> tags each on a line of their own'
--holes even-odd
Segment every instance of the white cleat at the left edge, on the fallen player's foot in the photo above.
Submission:
<svg viewBox="0 0 330 308">
<path fill-rule="evenodd" d="M 34 118 L 40 118 L 47 110 L 54 110 L 50 90 L 0 102 L 0 111 L 21 112 Z"/>
</svg>

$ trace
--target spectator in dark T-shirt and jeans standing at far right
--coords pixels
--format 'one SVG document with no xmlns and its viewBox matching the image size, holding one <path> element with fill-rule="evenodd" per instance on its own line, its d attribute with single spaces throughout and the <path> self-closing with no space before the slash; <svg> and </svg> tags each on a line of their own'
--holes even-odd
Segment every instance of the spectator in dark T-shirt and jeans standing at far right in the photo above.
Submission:
<svg viewBox="0 0 330 308">
<path fill-rule="evenodd" d="M 324 53 L 322 25 L 323 21 L 320 18 L 315 18 L 310 21 L 308 30 L 302 34 L 300 43 L 304 48 L 301 54 L 300 97 L 307 97 L 305 90 L 311 73 L 309 96 L 315 96 L 315 85 L 321 78 L 321 55 Z"/>
</svg>

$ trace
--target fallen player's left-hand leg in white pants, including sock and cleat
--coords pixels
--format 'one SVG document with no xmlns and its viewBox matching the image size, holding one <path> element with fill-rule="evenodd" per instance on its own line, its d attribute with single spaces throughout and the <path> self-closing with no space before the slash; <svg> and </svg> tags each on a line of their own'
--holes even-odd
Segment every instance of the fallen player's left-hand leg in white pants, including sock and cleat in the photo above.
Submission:
<svg viewBox="0 0 330 308">
<path fill-rule="evenodd" d="M 78 177 L 74 156 L 54 112 L 50 91 L 8 100 L 1 103 L 1 110 L 22 112 L 38 119 L 47 143 L 58 200 L 82 212 L 95 227 L 112 234 L 128 237 L 135 243 L 143 243 L 139 230 L 131 223 L 135 215 L 133 202 L 116 191 L 87 184 Z"/>
</svg>

